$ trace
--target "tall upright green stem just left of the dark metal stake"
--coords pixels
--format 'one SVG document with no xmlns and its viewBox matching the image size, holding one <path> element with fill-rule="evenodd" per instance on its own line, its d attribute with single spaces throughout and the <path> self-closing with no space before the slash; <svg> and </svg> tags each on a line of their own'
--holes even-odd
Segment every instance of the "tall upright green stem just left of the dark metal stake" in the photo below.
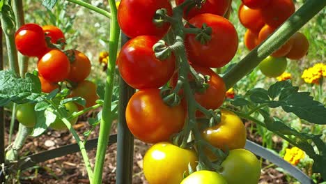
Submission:
<svg viewBox="0 0 326 184">
<path fill-rule="evenodd" d="M 102 109 L 102 120 L 100 123 L 100 134 L 98 137 L 98 149 L 96 151 L 96 160 L 94 168 L 94 183 L 102 183 L 102 171 L 107 151 L 107 144 L 111 132 L 111 123 L 114 120 L 111 116 L 111 101 L 114 86 L 114 74 L 116 68 L 116 54 L 118 51 L 118 40 L 120 29 L 117 20 L 116 2 L 109 0 L 111 8 L 110 38 L 109 38 L 109 64 L 107 67 L 107 82 L 105 84 L 104 104 Z"/>
</svg>

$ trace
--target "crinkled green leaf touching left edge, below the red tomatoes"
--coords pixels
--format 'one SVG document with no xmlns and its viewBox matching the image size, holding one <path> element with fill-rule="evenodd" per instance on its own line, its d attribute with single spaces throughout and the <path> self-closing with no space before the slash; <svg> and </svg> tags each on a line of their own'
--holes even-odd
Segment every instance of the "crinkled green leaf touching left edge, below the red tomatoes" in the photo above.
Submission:
<svg viewBox="0 0 326 184">
<path fill-rule="evenodd" d="M 41 94 L 40 79 L 30 73 L 24 79 L 17 77 L 14 72 L 0 71 L 0 107 L 15 102 L 40 102 L 45 97 Z"/>
</svg>

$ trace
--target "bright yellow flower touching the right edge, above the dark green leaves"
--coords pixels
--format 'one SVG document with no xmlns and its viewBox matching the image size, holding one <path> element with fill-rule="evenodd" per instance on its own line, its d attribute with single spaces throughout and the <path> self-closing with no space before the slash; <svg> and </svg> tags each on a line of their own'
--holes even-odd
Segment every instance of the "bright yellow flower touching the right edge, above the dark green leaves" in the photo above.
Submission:
<svg viewBox="0 0 326 184">
<path fill-rule="evenodd" d="M 326 77 L 326 65 L 323 63 L 316 63 L 313 67 L 304 70 L 301 76 L 304 82 L 309 84 L 319 84 L 322 77 Z"/>
</svg>

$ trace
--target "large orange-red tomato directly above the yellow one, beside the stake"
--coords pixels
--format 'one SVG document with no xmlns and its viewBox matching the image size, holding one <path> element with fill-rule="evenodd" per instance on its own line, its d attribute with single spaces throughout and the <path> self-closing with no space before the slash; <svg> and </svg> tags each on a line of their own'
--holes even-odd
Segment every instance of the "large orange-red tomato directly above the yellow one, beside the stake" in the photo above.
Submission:
<svg viewBox="0 0 326 184">
<path fill-rule="evenodd" d="M 130 132 L 147 143 L 168 141 L 185 123 L 181 105 L 169 107 L 160 95 L 160 89 L 143 89 L 130 98 L 125 118 Z"/>
</svg>

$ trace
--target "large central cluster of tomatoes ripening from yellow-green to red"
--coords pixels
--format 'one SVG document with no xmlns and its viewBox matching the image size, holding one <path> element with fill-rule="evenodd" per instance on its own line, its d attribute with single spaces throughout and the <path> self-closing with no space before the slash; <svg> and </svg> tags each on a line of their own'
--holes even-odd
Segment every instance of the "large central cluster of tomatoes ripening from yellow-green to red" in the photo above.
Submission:
<svg viewBox="0 0 326 184">
<path fill-rule="evenodd" d="M 183 0 L 176 0 L 177 5 L 182 3 Z M 195 34 L 185 35 L 188 62 L 197 73 L 208 76 L 208 87 L 204 91 L 194 91 L 194 100 L 205 109 L 218 109 L 226 93 L 222 77 L 210 68 L 225 66 L 238 49 L 237 31 L 223 17 L 230 4 L 229 0 L 205 1 L 201 8 L 185 7 L 183 13 L 188 22 L 186 29 L 211 28 L 210 38 L 205 43 Z M 169 0 L 122 0 L 118 7 L 118 23 L 130 38 L 118 55 L 118 70 L 127 84 L 138 89 L 127 104 L 127 126 L 135 137 L 154 144 L 143 158 L 147 181 L 151 184 L 258 183 L 260 163 L 253 153 L 244 150 L 246 130 L 241 119 L 228 110 L 221 110 L 221 121 L 217 125 L 199 130 L 209 144 L 229 151 L 226 159 L 220 160 L 223 169 L 195 171 L 187 176 L 189 167 L 194 169 L 199 163 L 196 148 L 180 148 L 171 143 L 171 137 L 183 130 L 187 121 L 187 102 L 183 98 L 180 104 L 171 106 L 164 102 L 160 93 L 160 88 L 167 83 L 176 87 L 180 65 L 175 54 L 158 59 L 153 50 L 171 26 L 169 22 L 160 22 L 157 26 L 153 21 L 155 12 L 162 8 L 167 16 L 173 15 Z M 193 78 L 189 74 L 188 81 L 194 81 Z M 181 90 L 181 96 L 182 93 Z M 196 112 L 196 116 L 203 114 Z M 218 160 L 208 149 L 204 152 L 212 162 Z"/>
</svg>

